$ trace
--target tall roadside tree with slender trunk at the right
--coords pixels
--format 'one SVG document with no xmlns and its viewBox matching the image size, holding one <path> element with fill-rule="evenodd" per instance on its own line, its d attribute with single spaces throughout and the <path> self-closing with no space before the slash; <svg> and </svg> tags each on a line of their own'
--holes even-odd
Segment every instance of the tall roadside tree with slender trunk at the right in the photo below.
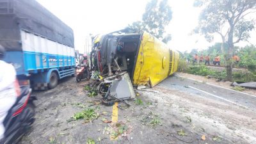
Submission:
<svg viewBox="0 0 256 144">
<path fill-rule="evenodd" d="M 197 0 L 195 6 L 203 8 L 199 17 L 196 33 L 202 33 L 211 42 L 214 34 L 221 37 L 221 51 L 225 54 L 224 61 L 227 79 L 232 80 L 232 54 L 234 44 L 250 38 L 250 31 L 255 21 L 248 15 L 256 9 L 255 0 Z M 225 51 L 225 44 L 228 45 Z"/>
</svg>

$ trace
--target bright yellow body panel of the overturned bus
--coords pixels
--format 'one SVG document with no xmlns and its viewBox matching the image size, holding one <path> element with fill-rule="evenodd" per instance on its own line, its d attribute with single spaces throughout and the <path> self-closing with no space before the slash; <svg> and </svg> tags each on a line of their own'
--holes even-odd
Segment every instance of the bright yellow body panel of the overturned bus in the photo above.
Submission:
<svg viewBox="0 0 256 144">
<path fill-rule="evenodd" d="M 133 84 L 156 86 L 177 71 L 179 52 L 148 33 L 143 33 L 136 61 Z"/>
</svg>

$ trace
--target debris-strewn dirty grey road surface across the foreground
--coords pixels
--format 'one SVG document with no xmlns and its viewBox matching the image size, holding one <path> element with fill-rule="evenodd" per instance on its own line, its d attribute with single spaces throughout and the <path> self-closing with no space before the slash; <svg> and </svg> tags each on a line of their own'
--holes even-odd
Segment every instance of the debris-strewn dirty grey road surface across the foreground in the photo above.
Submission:
<svg viewBox="0 0 256 144">
<path fill-rule="evenodd" d="M 95 143 L 256 143 L 255 109 L 159 84 L 137 91 L 140 104 L 129 100 L 131 106 L 127 107 L 118 102 L 118 125 L 107 124 L 102 119 L 112 120 L 113 106 L 98 104 L 102 96 L 88 97 L 83 90 L 88 82 L 75 81 L 70 77 L 54 90 L 33 92 L 38 97 L 36 122 L 21 144 L 86 143 L 89 138 Z M 67 122 L 74 113 L 88 108 L 95 109 L 99 118 L 88 123 Z M 115 132 L 119 125 L 126 127 L 119 131 L 122 134 Z"/>
</svg>

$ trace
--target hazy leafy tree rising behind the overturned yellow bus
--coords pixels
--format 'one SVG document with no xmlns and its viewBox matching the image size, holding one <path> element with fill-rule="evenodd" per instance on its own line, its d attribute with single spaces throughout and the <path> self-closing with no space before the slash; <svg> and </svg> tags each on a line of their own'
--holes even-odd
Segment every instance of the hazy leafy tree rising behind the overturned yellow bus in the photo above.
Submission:
<svg viewBox="0 0 256 144">
<path fill-rule="evenodd" d="M 168 0 L 152 0 L 150 1 L 143 13 L 142 21 L 133 22 L 129 28 L 134 29 L 140 33 L 147 31 L 151 35 L 156 36 L 164 43 L 172 39 L 170 34 L 166 34 L 165 27 L 168 26 L 172 20 L 172 10 L 168 5 Z"/>
</svg>

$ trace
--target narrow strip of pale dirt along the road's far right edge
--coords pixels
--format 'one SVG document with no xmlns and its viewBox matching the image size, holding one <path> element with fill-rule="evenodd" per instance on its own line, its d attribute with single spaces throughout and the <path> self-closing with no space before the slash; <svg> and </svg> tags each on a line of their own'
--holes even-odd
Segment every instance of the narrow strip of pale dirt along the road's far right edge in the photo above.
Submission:
<svg viewBox="0 0 256 144">
<path fill-rule="evenodd" d="M 230 81 L 217 82 L 216 79 L 214 79 L 214 78 L 207 78 L 207 77 L 204 77 L 204 76 L 196 76 L 196 75 L 193 75 L 193 74 L 186 74 L 186 73 L 182 73 L 182 72 L 177 72 L 176 74 L 177 74 L 177 76 L 187 77 L 189 79 L 195 79 L 196 81 L 202 81 L 204 83 L 210 83 L 210 84 L 214 84 L 214 85 L 217 85 L 217 86 L 222 86 L 224 88 L 229 88 L 229 89 L 234 88 L 234 86 L 231 86 L 232 82 L 230 82 Z M 243 90 L 243 92 L 244 93 L 249 93 L 249 94 L 252 94 L 252 95 L 256 95 L 256 90 L 253 90 L 253 89 L 246 88 L 245 90 Z"/>
</svg>

